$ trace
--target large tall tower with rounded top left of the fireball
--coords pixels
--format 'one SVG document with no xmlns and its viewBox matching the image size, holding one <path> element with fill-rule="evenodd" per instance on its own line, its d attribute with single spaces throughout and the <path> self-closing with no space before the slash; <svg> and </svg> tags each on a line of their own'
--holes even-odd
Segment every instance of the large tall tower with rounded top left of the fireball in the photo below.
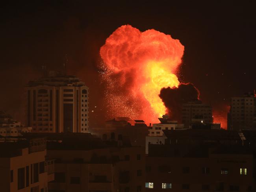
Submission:
<svg viewBox="0 0 256 192">
<path fill-rule="evenodd" d="M 82 132 L 89 127 L 88 87 L 75 76 L 50 71 L 26 86 L 26 124 L 32 132 Z"/>
</svg>

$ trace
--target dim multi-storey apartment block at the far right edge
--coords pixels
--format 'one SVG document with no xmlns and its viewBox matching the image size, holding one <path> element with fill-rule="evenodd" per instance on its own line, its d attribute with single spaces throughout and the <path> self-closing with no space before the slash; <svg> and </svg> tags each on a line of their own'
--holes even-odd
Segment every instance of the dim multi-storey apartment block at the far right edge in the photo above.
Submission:
<svg viewBox="0 0 256 192">
<path fill-rule="evenodd" d="M 228 114 L 228 129 L 256 128 L 256 97 L 247 93 L 241 97 L 232 97 Z"/>
</svg>

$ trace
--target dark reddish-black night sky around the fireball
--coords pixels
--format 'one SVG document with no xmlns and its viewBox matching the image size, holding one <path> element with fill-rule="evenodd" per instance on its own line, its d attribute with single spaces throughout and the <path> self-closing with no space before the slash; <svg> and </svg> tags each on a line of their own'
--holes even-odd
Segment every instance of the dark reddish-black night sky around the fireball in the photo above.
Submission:
<svg viewBox="0 0 256 192">
<path fill-rule="evenodd" d="M 67 71 L 90 89 L 90 125 L 105 120 L 99 49 L 118 27 L 155 29 L 185 46 L 180 81 L 226 116 L 231 96 L 255 86 L 255 1 L 37 1 L 1 6 L 0 110 L 24 122 L 24 86 L 41 66 Z M 91 108 L 91 109 L 92 109 Z"/>
</svg>

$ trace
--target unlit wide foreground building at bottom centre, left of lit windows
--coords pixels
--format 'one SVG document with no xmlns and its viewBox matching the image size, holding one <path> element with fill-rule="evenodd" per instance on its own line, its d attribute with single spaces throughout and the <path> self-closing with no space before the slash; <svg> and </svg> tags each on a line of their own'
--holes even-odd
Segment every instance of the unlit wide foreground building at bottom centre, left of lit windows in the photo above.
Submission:
<svg viewBox="0 0 256 192">
<path fill-rule="evenodd" d="M 56 159 L 49 192 L 145 191 L 143 147 L 103 141 L 89 133 L 27 133 L 25 137 L 39 135 L 48 135 L 46 156 Z"/>
</svg>

